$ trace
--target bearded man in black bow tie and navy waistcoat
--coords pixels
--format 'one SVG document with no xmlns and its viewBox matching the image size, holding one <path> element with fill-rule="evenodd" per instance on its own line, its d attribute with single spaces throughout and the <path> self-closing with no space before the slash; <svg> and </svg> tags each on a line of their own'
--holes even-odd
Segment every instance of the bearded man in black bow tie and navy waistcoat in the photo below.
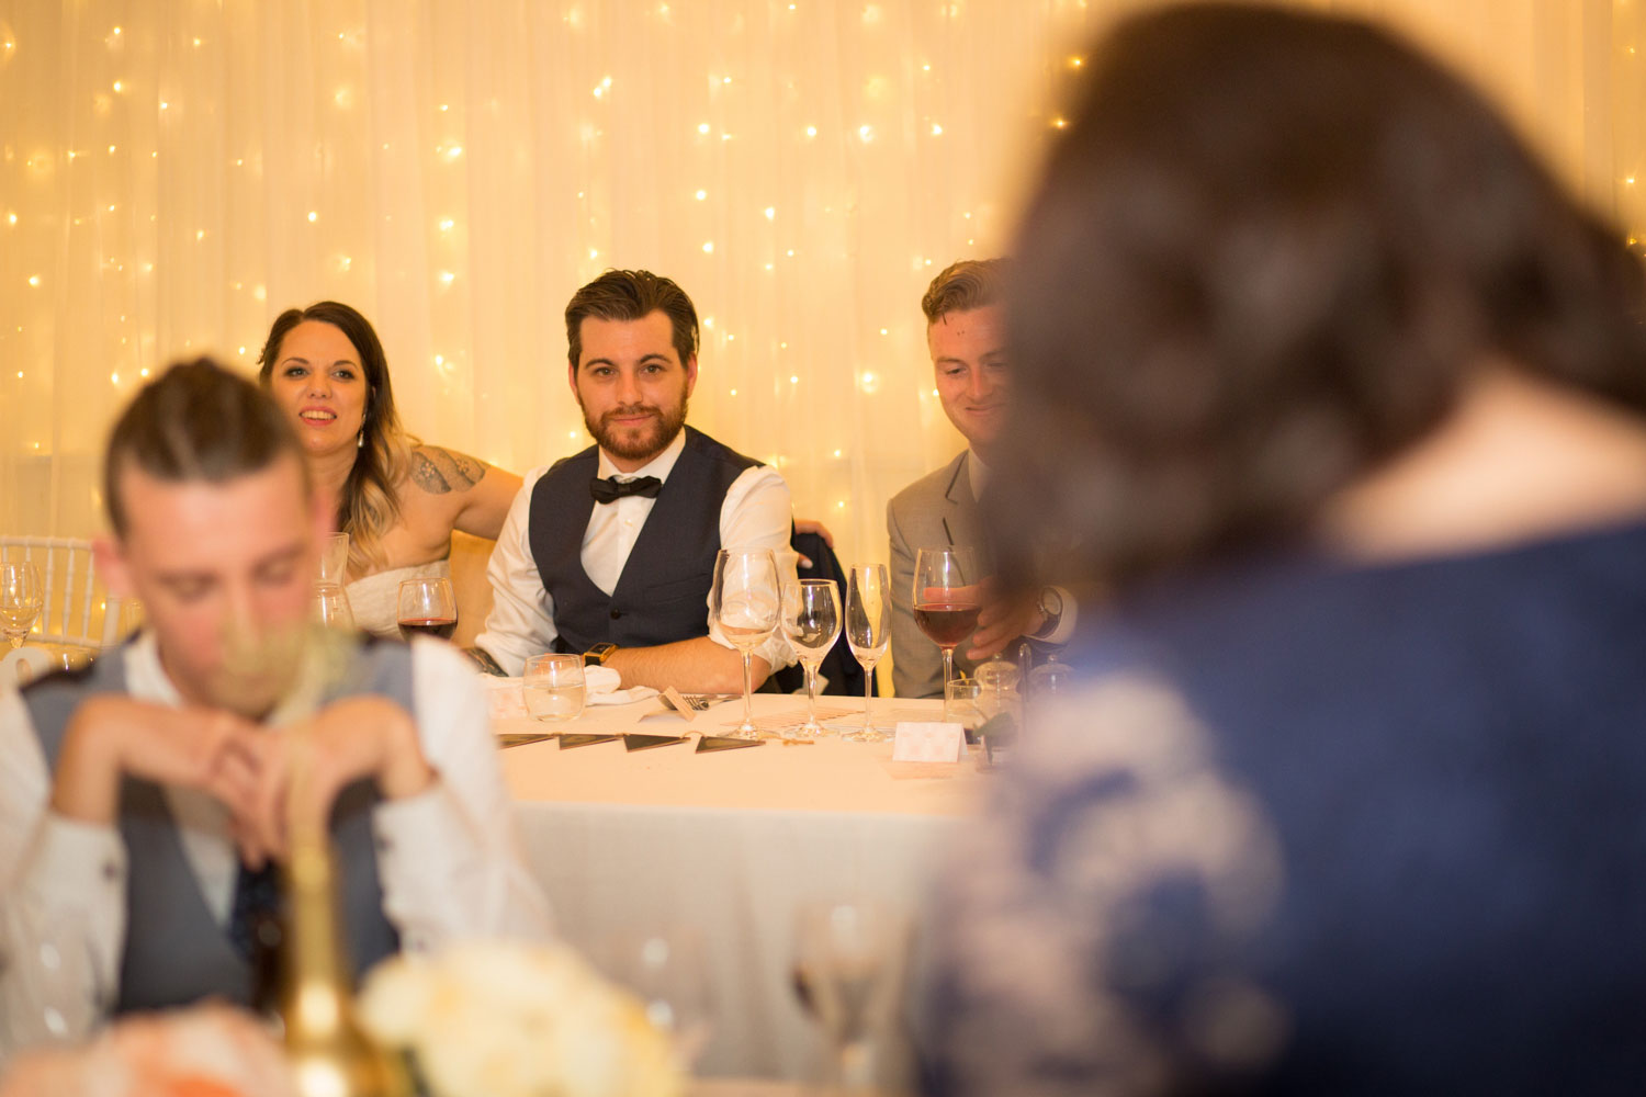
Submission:
<svg viewBox="0 0 1646 1097">
<path fill-rule="evenodd" d="M 573 294 L 566 340 L 596 444 L 527 474 L 487 569 L 477 655 L 505 674 L 571 651 L 624 687 L 741 689 L 742 660 L 708 613 L 714 556 L 769 548 L 792 571 L 788 485 L 685 424 L 698 314 L 668 278 L 606 271 Z M 790 661 L 780 636 L 757 648 L 756 686 Z"/>
</svg>

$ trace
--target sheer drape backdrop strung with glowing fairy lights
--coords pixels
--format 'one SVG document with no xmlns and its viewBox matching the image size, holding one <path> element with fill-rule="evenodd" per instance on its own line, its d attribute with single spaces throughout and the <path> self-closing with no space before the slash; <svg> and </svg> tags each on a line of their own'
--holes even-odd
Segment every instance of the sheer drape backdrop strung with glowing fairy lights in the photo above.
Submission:
<svg viewBox="0 0 1646 1097">
<path fill-rule="evenodd" d="M 704 316 L 691 419 L 841 556 L 960 447 L 918 298 L 1001 250 L 1118 0 L 0 0 L 0 530 L 100 525 L 145 372 L 372 317 L 408 426 L 586 444 L 561 309 L 606 266 Z M 1639 0 L 1361 0 L 1465 66 L 1626 229 Z M 1641 186 L 1646 186 L 1643 178 Z"/>
</svg>

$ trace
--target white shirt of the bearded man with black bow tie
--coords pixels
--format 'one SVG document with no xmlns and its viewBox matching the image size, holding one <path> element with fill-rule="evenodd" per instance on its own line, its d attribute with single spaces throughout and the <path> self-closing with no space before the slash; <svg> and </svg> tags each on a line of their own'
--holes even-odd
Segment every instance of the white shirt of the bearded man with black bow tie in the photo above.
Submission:
<svg viewBox="0 0 1646 1097">
<path fill-rule="evenodd" d="M 606 451 L 599 451 L 596 475 L 601 479 L 616 475 L 619 480 L 652 475 L 667 484 L 685 447 L 686 434 L 681 431 L 663 452 L 634 472 L 617 472 Z M 528 525 L 532 488 L 548 469 L 550 465 L 542 465 L 525 475 L 520 493 L 509 508 L 504 531 L 497 536 L 491 564 L 486 567 L 486 576 L 492 582 L 492 615 L 486 618 L 486 632 L 476 636 L 474 643 L 497 660 L 510 676 L 518 676 L 533 655 L 553 651 L 555 638 L 560 635 L 555 628 L 555 599 L 543 589 L 543 576 L 532 558 Z M 629 553 L 634 551 L 634 543 L 655 502 L 644 495 L 624 495 L 612 503 L 594 503 L 589 528 L 583 533 L 579 559 L 589 581 L 606 594 L 617 589 Z M 792 516 L 783 477 L 767 465 L 744 469 L 726 488 L 726 498 L 721 502 L 721 544 L 769 548 L 777 556 L 779 579 L 783 576 L 792 579 L 795 571 L 795 554 L 788 548 Z M 732 645 L 708 615 L 706 595 L 703 605 L 709 638 L 723 648 L 731 648 Z M 795 661 L 780 633 L 756 648 L 754 655 L 765 660 L 774 671 Z"/>
</svg>

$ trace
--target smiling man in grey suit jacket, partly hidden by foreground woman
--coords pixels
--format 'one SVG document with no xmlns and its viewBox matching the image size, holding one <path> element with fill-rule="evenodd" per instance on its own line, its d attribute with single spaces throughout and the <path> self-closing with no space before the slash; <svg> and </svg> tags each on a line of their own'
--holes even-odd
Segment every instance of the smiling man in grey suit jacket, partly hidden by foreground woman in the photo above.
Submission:
<svg viewBox="0 0 1646 1097">
<path fill-rule="evenodd" d="M 922 548 L 969 546 L 989 571 L 989 548 L 978 497 L 989 475 L 989 451 L 1006 421 L 1011 370 L 1006 322 L 999 304 L 1006 260 L 961 260 L 932 280 L 920 308 L 927 316 L 927 349 L 943 411 L 966 449 L 920 477 L 886 507 L 890 538 L 892 683 L 899 697 L 943 696 L 943 653 L 915 625 L 915 553 Z M 1075 605 L 1058 587 L 1035 597 L 986 600 L 978 630 L 955 648 L 955 673 L 971 669 L 1019 636 L 1063 643 L 1075 625 Z"/>
</svg>

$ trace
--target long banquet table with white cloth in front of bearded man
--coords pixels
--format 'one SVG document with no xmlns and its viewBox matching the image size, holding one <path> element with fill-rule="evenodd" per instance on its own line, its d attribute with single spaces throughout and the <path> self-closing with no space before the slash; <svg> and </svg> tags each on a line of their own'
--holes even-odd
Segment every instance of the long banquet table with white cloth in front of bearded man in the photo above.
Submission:
<svg viewBox="0 0 1646 1097">
<path fill-rule="evenodd" d="M 760 694 L 757 719 L 803 715 L 805 699 Z M 821 711 L 863 701 L 820 697 Z M 876 724 L 940 719 L 938 701 L 876 701 Z M 723 734 L 741 699 L 691 722 L 662 701 L 589 706 L 565 724 L 495 719 L 499 735 L 691 734 L 685 743 L 629 752 L 624 742 L 563 748 L 556 740 L 504 750 L 527 860 L 561 936 L 597 951 L 622 934 L 703 936 L 713 1036 L 701 1076 L 815 1079 L 823 1039 L 792 990 L 793 923 L 807 900 L 874 896 L 907 914 L 923 903 L 942 852 L 993 780 L 961 763 L 892 761 L 892 743 L 767 740 L 695 752 Z M 841 725 L 853 725 L 841 717 Z M 915 946 L 914 952 L 918 952 Z M 900 1021 L 882 1033 L 882 1077 L 905 1058 Z"/>
</svg>

